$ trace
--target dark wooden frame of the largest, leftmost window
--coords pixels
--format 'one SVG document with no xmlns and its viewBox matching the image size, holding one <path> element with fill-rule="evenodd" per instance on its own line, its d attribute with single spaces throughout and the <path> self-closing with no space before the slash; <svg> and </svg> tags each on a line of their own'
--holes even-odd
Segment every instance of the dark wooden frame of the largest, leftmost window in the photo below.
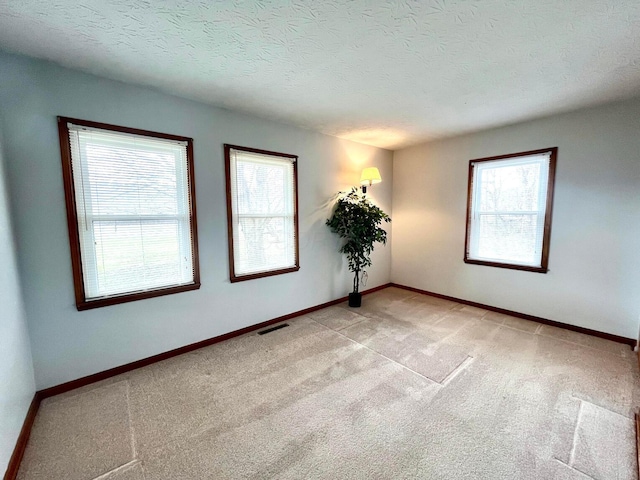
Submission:
<svg viewBox="0 0 640 480">
<path fill-rule="evenodd" d="M 71 267 L 73 271 L 73 285 L 76 299 L 76 308 L 79 311 L 89 310 L 92 308 L 106 307 L 109 305 L 118 305 L 121 303 L 143 300 L 146 298 L 154 298 L 163 295 L 171 295 L 174 293 L 197 290 L 200 288 L 200 261 L 198 255 L 198 227 L 196 215 L 196 188 L 193 162 L 193 139 L 178 135 L 170 135 L 166 133 L 152 132 L 149 130 L 141 130 L 137 128 L 122 127 L 119 125 L 111 125 L 107 123 L 93 122 L 89 120 L 81 120 L 69 117 L 57 117 L 58 134 L 60 140 L 60 156 L 62 160 L 62 177 L 64 183 L 65 204 L 67 210 L 67 227 L 69 231 L 69 246 L 71 249 Z M 73 180 L 73 166 L 71 161 L 71 145 L 69 140 L 68 123 L 85 126 L 89 128 L 97 128 L 116 133 L 139 135 L 144 137 L 159 138 L 164 140 L 174 140 L 187 143 L 187 196 L 189 203 L 189 226 L 191 229 L 191 255 L 193 268 L 193 283 L 178 286 L 158 287 L 145 291 L 133 293 L 113 294 L 100 297 L 95 300 L 88 300 L 85 292 L 85 280 L 82 269 L 82 249 L 80 232 L 78 231 L 78 209 L 76 205 L 76 191 Z"/>
</svg>

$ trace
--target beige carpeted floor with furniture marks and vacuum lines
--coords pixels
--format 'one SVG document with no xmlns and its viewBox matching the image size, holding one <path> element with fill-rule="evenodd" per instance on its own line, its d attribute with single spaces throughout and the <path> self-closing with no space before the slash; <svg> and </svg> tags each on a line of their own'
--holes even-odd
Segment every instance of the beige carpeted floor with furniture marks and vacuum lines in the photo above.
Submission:
<svg viewBox="0 0 640 480">
<path fill-rule="evenodd" d="M 635 479 L 628 346 L 387 288 L 58 397 L 27 479 Z"/>
</svg>

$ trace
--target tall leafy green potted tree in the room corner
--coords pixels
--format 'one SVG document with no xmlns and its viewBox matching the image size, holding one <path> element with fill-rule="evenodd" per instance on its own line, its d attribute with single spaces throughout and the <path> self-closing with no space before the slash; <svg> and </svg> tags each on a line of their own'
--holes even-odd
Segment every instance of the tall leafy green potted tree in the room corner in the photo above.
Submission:
<svg viewBox="0 0 640 480">
<path fill-rule="evenodd" d="M 354 187 L 350 192 L 340 192 L 336 208 L 327 225 L 331 231 L 345 239 L 340 252 L 347 256 L 349 270 L 354 273 L 353 292 L 349 294 L 349 306 L 359 307 L 360 275 L 371 265 L 373 244 L 387 243 L 387 232 L 380 226 L 390 222 L 389 215 L 375 206 Z"/>
</svg>

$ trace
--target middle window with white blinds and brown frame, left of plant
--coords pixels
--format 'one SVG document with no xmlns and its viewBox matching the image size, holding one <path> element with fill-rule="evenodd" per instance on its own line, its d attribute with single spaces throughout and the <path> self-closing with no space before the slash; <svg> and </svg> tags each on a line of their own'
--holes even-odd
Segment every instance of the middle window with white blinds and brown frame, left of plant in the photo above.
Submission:
<svg viewBox="0 0 640 480">
<path fill-rule="evenodd" d="M 231 281 L 299 270 L 298 157 L 234 145 L 224 153 Z"/>
</svg>

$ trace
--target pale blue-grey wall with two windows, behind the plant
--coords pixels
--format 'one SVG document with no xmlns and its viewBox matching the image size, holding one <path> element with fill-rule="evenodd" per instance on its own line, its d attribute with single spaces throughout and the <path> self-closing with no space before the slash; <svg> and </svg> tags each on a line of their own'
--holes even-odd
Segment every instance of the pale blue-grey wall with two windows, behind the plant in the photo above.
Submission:
<svg viewBox="0 0 640 480">
<path fill-rule="evenodd" d="M 0 110 L 38 389 L 346 295 L 327 202 L 371 165 L 383 176 L 372 196 L 391 210 L 390 151 L 47 62 L 0 53 Z M 194 139 L 200 290 L 76 311 L 57 115 Z M 299 155 L 299 272 L 229 283 L 223 143 Z M 390 253 L 377 248 L 367 288 L 389 281 Z"/>
</svg>

